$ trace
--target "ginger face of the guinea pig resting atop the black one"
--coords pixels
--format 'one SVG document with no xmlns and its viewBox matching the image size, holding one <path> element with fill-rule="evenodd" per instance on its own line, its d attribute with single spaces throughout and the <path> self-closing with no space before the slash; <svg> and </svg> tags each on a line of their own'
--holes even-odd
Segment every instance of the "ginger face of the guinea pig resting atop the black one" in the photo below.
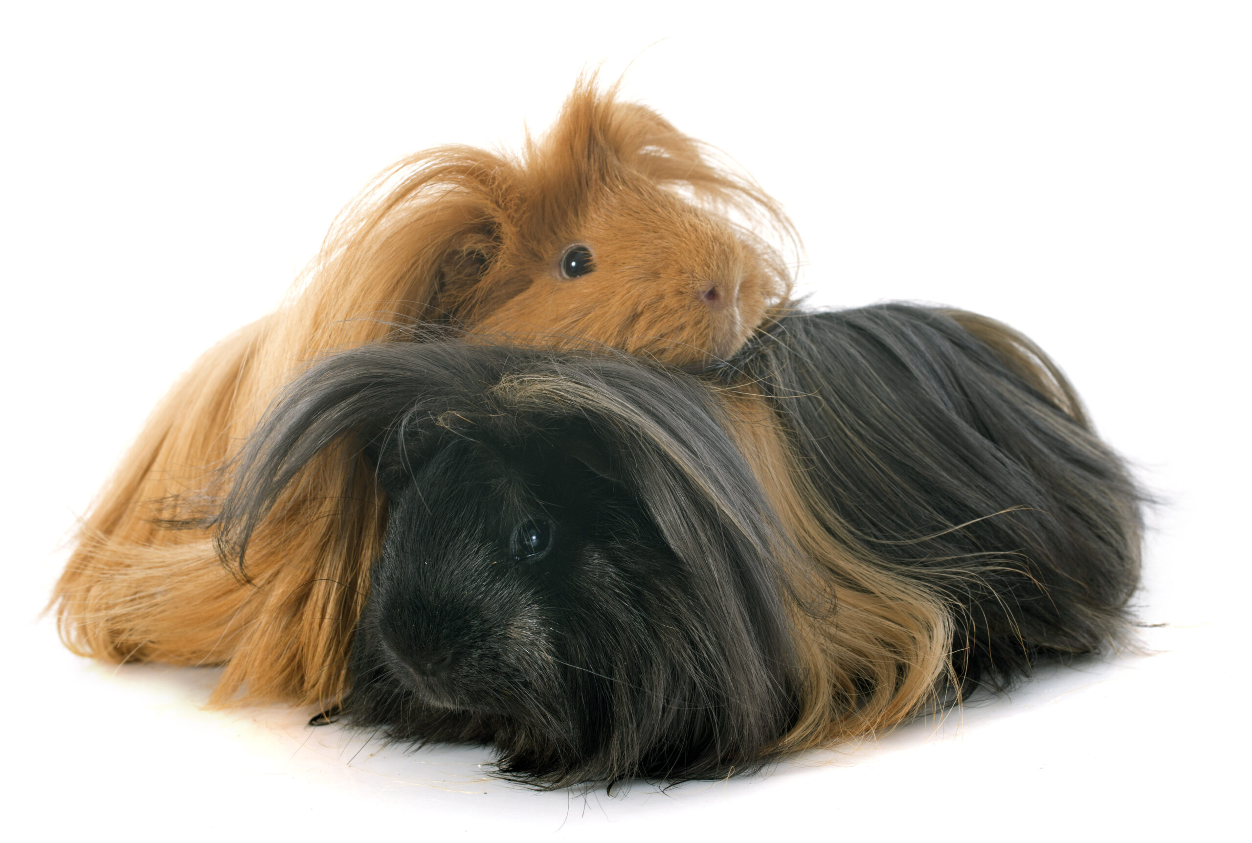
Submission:
<svg viewBox="0 0 1252 843">
<path fill-rule="evenodd" d="M 560 203 L 551 203 L 561 208 Z M 478 326 L 513 342 L 605 343 L 679 366 L 732 354 L 785 294 L 776 269 L 725 222 L 646 182 L 622 183 L 506 243 L 497 276 L 523 292 Z"/>
</svg>

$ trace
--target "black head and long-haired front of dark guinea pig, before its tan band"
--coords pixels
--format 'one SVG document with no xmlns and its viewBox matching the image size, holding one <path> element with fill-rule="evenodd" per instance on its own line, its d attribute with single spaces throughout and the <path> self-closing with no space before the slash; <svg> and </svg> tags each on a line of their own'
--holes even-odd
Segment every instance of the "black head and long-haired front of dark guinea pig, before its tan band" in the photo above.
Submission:
<svg viewBox="0 0 1252 843">
<path fill-rule="evenodd" d="M 366 347 L 269 413 L 219 539 L 244 559 L 348 437 L 388 509 L 352 723 L 493 744 L 501 774 L 543 787 L 717 778 L 770 754 L 800 683 L 786 539 L 719 416 L 696 378 L 625 354 Z"/>
</svg>

